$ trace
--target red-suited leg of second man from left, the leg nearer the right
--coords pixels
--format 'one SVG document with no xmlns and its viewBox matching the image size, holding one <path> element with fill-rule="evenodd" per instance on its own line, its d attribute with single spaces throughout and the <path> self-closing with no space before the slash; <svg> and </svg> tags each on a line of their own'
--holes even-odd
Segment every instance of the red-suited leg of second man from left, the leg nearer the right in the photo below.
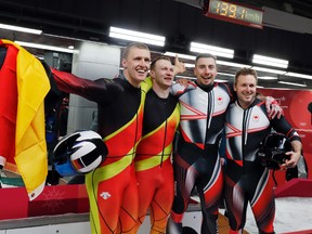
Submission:
<svg viewBox="0 0 312 234">
<path fill-rule="evenodd" d="M 165 234 L 168 217 L 173 203 L 173 168 L 170 160 L 155 171 L 158 176 L 157 190 L 151 204 L 151 234 Z"/>
</svg>

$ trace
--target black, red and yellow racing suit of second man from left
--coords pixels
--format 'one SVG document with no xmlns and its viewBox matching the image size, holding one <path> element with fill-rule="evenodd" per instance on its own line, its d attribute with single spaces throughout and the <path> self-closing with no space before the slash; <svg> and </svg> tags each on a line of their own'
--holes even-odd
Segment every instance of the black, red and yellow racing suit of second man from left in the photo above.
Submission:
<svg viewBox="0 0 312 234">
<path fill-rule="evenodd" d="M 173 202 L 172 143 L 180 121 L 178 99 L 160 99 L 154 90 L 146 94 L 143 138 L 135 154 L 139 184 L 139 220 L 143 223 L 150 208 L 151 234 L 165 233 Z"/>
</svg>

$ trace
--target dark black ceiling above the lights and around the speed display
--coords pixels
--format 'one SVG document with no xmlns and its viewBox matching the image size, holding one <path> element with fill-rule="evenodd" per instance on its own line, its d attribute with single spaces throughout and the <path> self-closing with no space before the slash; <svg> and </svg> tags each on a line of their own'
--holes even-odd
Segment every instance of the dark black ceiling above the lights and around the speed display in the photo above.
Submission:
<svg viewBox="0 0 312 234">
<path fill-rule="evenodd" d="M 253 53 L 288 60 L 285 72 L 312 75 L 312 0 L 233 0 L 263 10 L 263 29 L 236 25 L 203 14 L 207 0 L 0 0 L 0 23 L 42 29 L 41 35 L 0 29 L 0 38 L 29 41 L 67 48 L 87 41 L 125 47 L 128 41 L 108 37 L 109 26 L 166 36 L 164 48 L 151 47 L 157 56 L 166 51 L 196 55 L 190 52 L 190 42 L 197 41 L 235 50 L 226 62 L 252 66 Z M 42 50 L 28 49 L 34 54 Z M 194 61 L 182 60 L 194 63 Z M 268 67 L 270 68 L 270 67 Z M 271 67 L 274 68 L 274 67 Z M 237 67 L 219 65 L 218 78 L 227 80 Z M 193 76 L 192 68 L 186 76 Z M 311 79 L 280 76 L 258 72 L 259 77 L 304 82 L 312 89 Z M 259 80 L 265 88 L 296 87 L 277 80 Z M 297 88 L 302 89 L 302 88 Z"/>
</svg>

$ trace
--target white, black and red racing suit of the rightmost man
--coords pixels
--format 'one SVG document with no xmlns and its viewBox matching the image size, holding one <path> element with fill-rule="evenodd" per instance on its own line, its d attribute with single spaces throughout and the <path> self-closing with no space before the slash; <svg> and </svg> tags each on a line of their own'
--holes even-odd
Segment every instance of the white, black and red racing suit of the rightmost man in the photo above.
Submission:
<svg viewBox="0 0 312 234">
<path fill-rule="evenodd" d="M 225 117 L 226 167 L 225 204 L 230 233 L 240 233 L 246 222 L 248 202 L 259 233 L 274 233 L 275 204 L 269 169 L 256 156 L 260 142 L 271 128 L 286 134 L 290 141 L 299 140 L 298 133 L 282 116 L 269 119 L 265 104 L 256 99 L 246 109 L 237 102 L 230 105 Z"/>
</svg>

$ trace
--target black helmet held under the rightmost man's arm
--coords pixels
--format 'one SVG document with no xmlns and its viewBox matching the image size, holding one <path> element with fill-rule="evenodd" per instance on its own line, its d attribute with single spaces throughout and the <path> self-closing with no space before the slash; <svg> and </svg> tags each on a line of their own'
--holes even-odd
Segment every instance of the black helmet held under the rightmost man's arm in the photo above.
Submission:
<svg viewBox="0 0 312 234">
<path fill-rule="evenodd" d="M 258 157 L 261 164 L 269 169 L 280 169 L 290 156 L 286 152 L 292 151 L 290 140 L 281 133 L 269 134 L 261 143 L 258 151 Z"/>
</svg>

